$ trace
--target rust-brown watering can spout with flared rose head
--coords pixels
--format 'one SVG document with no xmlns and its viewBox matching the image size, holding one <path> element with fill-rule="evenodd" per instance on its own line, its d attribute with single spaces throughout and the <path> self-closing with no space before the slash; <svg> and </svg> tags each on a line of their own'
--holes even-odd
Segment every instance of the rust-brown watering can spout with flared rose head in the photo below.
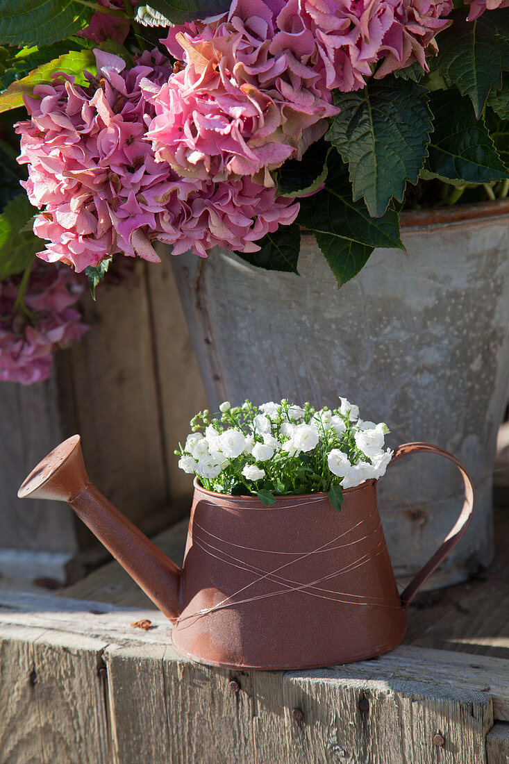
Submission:
<svg viewBox="0 0 509 764">
<path fill-rule="evenodd" d="M 180 568 L 94 487 L 79 435 L 57 446 L 18 490 L 24 499 L 66 501 L 170 620 L 180 613 Z"/>
</svg>

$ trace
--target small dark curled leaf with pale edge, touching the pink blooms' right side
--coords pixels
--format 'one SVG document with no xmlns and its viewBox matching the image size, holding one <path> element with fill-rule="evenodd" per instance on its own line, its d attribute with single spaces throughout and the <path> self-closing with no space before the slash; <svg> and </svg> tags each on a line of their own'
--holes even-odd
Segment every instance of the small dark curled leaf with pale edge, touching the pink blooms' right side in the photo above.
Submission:
<svg viewBox="0 0 509 764">
<path fill-rule="evenodd" d="M 330 149 L 326 141 L 316 141 L 301 160 L 287 160 L 277 171 L 277 190 L 281 196 L 306 196 L 316 191 L 326 180 Z"/>
</svg>

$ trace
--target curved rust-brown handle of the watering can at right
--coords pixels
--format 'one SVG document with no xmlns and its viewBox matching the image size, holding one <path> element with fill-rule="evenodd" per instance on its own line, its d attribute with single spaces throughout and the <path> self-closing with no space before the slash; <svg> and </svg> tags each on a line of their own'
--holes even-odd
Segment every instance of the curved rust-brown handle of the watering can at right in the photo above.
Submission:
<svg viewBox="0 0 509 764">
<path fill-rule="evenodd" d="M 401 594 L 401 603 L 403 604 L 403 607 L 407 607 L 407 605 L 410 604 L 413 597 L 415 597 L 421 586 L 428 580 L 428 578 L 430 578 L 433 571 L 435 571 L 440 563 L 445 560 L 447 555 L 449 555 L 449 552 L 452 552 L 452 549 L 454 549 L 465 533 L 465 530 L 468 528 L 470 520 L 472 520 L 472 512 L 474 511 L 474 486 L 468 472 L 462 465 L 460 465 L 459 461 L 452 456 L 452 454 L 449 454 L 449 452 L 445 451 L 443 448 L 439 448 L 438 445 L 431 445 L 430 443 L 405 443 L 404 445 L 400 445 L 396 448 L 389 465 L 394 465 L 394 461 L 417 452 L 428 452 L 430 454 L 445 456 L 446 459 L 449 459 L 449 461 L 452 461 L 453 464 L 456 465 L 461 472 L 463 482 L 465 483 L 465 502 L 463 503 L 462 511 L 458 520 L 456 520 L 455 526 L 446 536 L 443 544 L 437 549 L 433 557 L 426 562 L 426 565 L 424 565 L 422 570 L 417 573 L 415 578 L 410 581 L 410 584 L 408 584 L 407 588 Z"/>
</svg>

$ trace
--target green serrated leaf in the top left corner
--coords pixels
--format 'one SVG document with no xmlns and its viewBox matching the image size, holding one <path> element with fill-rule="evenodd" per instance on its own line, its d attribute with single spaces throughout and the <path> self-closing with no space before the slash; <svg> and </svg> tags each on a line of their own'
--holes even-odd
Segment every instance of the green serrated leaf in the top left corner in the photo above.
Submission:
<svg viewBox="0 0 509 764">
<path fill-rule="evenodd" d="M 0 0 L 0 44 L 49 45 L 89 24 L 94 9 L 80 0 Z"/>
</svg>

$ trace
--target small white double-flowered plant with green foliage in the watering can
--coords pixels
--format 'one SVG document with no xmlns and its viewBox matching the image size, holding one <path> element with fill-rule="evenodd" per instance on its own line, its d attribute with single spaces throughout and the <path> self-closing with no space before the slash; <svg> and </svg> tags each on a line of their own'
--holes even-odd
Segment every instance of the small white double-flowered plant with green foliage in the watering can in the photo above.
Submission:
<svg viewBox="0 0 509 764">
<path fill-rule="evenodd" d="M 207 490 L 257 496 L 266 506 L 277 496 L 326 491 L 339 511 L 343 489 L 381 478 L 393 455 L 384 449 L 387 425 L 359 419 L 358 406 L 339 400 L 333 410 L 284 399 L 201 411 L 175 451 L 179 467 Z"/>
</svg>

